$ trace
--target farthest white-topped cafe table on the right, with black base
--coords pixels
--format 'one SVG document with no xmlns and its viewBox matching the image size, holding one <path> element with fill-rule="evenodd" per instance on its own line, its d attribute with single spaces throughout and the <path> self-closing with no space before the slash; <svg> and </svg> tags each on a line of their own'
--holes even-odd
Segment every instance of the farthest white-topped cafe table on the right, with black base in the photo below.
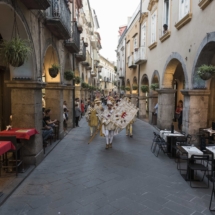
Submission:
<svg viewBox="0 0 215 215">
<path fill-rule="evenodd" d="M 167 143 L 167 153 L 169 155 L 171 155 L 171 157 L 175 157 L 176 156 L 176 149 L 175 149 L 176 142 L 175 142 L 175 138 L 176 137 L 180 137 L 180 136 L 184 136 L 184 135 L 181 134 L 181 133 L 179 133 L 178 131 L 174 131 L 174 133 L 171 133 L 171 131 L 161 130 L 160 131 L 160 136 Z"/>
</svg>

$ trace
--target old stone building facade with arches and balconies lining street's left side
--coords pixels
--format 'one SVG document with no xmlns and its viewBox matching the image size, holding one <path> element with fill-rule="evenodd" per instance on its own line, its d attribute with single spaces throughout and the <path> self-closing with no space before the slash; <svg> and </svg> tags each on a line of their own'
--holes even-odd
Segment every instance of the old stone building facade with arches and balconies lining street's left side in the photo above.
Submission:
<svg viewBox="0 0 215 215">
<path fill-rule="evenodd" d="M 43 159 L 42 93 L 51 118 L 60 122 L 62 138 L 63 101 L 67 101 L 68 127 L 72 128 L 75 96 L 90 95 L 81 82 L 96 84 L 101 39 L 95 22 L 98 25 L 88 0 L 0 0 L 0 40 L 17 36 L 32 47 L 32 54 L 21 66 L 6 65 L 0 58 L 0 129 L 10 124 L 12 115 L 13 127 L 36 128 L 40 133 L 24 147 L 28 164 Z M 50 70 L 52 65 L 59 67 L 55 74 Z M 80 81 L 68 81 L 66 71 L 73 71 Z"/>
</svg>

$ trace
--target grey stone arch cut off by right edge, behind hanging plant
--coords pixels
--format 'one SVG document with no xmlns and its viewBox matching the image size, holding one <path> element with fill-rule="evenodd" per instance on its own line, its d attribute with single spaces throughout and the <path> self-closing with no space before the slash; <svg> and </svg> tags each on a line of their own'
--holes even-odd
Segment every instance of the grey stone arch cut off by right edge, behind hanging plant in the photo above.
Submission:
<svg viewBox="0 0 215 215">
<path fill-rule="evenodd" d="M 198 67 L 201 64 L 209 64 L 214 57 L 215 50 L 215 32 L 207 33 L 204 39 L 202 40 L 196 57 L 194 59 L 193 68 L 192 68 L 192 88 L 210 88 L 210 81 L 204 81 L 200 79 L 197 75 Z"/>
</svg>

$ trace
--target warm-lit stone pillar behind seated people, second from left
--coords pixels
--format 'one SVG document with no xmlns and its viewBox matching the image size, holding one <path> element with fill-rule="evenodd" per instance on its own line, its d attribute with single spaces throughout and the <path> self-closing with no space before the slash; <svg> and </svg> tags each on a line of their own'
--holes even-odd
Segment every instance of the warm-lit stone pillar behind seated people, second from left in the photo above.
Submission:
<svg viewBox="0 0 215 215">
<path fill-rule="evenodd" d="M 48 83 L 46 86 L 46 108 L 51 109 L 51 119 L 60 121 L 59 135 L 63 138 L 63 90 L 60 83 Z"/>
</svg>

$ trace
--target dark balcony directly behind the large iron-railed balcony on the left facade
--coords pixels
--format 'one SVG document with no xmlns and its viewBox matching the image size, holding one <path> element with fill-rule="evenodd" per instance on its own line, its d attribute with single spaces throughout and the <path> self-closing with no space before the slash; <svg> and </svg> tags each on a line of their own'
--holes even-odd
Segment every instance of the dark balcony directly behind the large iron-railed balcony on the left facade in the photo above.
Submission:
<svg viewBox="0 0 215 215">
<path fill-rule="evenodd" d="M 65 40 L 64 44 L 70 53 L 78 53 L 80 51 L 80 34 L 76 22 L 72 23 L 72 37 L 69 40 Z"/>
</svg>

